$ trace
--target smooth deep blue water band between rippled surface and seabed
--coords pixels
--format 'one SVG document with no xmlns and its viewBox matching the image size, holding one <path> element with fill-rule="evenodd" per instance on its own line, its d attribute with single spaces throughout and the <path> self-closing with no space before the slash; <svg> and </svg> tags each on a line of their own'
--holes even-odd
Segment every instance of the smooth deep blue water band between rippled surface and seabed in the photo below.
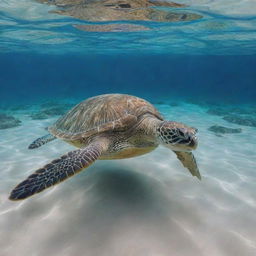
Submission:
<svg viewBox="0 0 256 256">
<path fill-rule="evenodd" d="M 0 102 L 129 93 L 157 99 L 254 103 L 256 56 L 0 55 Z"/>
</svg>

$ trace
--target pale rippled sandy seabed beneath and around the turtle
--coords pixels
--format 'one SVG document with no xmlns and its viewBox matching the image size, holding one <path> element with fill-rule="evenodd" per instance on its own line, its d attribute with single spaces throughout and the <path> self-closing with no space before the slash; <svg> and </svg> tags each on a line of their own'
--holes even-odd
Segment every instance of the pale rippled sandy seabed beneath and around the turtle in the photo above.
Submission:
<svg viewBox="0 0 256 256">
<path fill-rule="evenodd" d="M 159 147 L 138 158 L 98 161 L 52 189 L 11 202 L 18 182 L 72 147 L 53 141 L 27 149 L 54 119 L 23 114 L 22 126 L 1 130 L 0 255 L 256 255 L 255 128 L 217 137 L 207 128 L 240 126 L 195 105 L 158 107 L 170 120 L 199 129 L 201 182 Z"/>
</svg>

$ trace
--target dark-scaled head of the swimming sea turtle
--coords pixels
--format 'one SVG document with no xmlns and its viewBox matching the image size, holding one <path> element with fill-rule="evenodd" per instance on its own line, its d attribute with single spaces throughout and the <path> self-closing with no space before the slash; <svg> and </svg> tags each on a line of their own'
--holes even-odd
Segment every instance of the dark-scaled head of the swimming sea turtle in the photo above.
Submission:
<svg viewBox="0 0 256 256">
<path fill-rule="evenodd" d="M 163 121 L 157 127 L 157 137 L 160 143 L 174 151 L 191 151 L 196 149 L 196 133 L 196 128 L 172 121 Z"/>
</svg>

